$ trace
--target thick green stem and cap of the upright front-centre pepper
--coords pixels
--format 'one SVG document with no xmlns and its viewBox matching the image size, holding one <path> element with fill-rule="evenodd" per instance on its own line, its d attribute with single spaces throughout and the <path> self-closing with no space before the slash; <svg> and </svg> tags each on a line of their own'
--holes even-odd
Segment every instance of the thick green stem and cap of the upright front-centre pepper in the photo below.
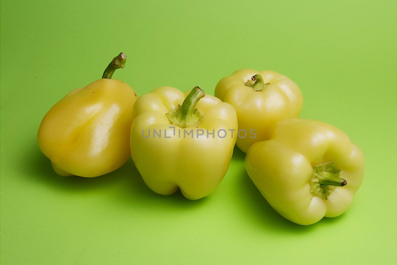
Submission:
<svg viewBox="0 0 397 265">
<path fill-rule="evenodd" d="M 181 128 L 187 128 L 198 124 L 204 117 L 201 115 L 200 111 L 196 109 L 196 105 L 204 96 L 204 91 L 198 86 L 193 88 L 183 101 L 182 106 L 178 105 L 166 114 L 170 122 Z"/>
</svg>

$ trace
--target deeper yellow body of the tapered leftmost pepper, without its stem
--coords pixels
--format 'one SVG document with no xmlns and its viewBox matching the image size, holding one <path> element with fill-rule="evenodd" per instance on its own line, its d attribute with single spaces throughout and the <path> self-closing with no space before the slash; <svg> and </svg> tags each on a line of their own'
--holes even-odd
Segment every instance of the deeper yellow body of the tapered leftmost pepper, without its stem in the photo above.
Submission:
<svg viewBox="0 0 397 265">
<path fill-rule="evenodd" d="M 122 166 L 130 156 L 135 91 L 116 79 L 77 88 L 44 116 L 37 139 L 55 172 L 97 177 Z"/>
</svg>

